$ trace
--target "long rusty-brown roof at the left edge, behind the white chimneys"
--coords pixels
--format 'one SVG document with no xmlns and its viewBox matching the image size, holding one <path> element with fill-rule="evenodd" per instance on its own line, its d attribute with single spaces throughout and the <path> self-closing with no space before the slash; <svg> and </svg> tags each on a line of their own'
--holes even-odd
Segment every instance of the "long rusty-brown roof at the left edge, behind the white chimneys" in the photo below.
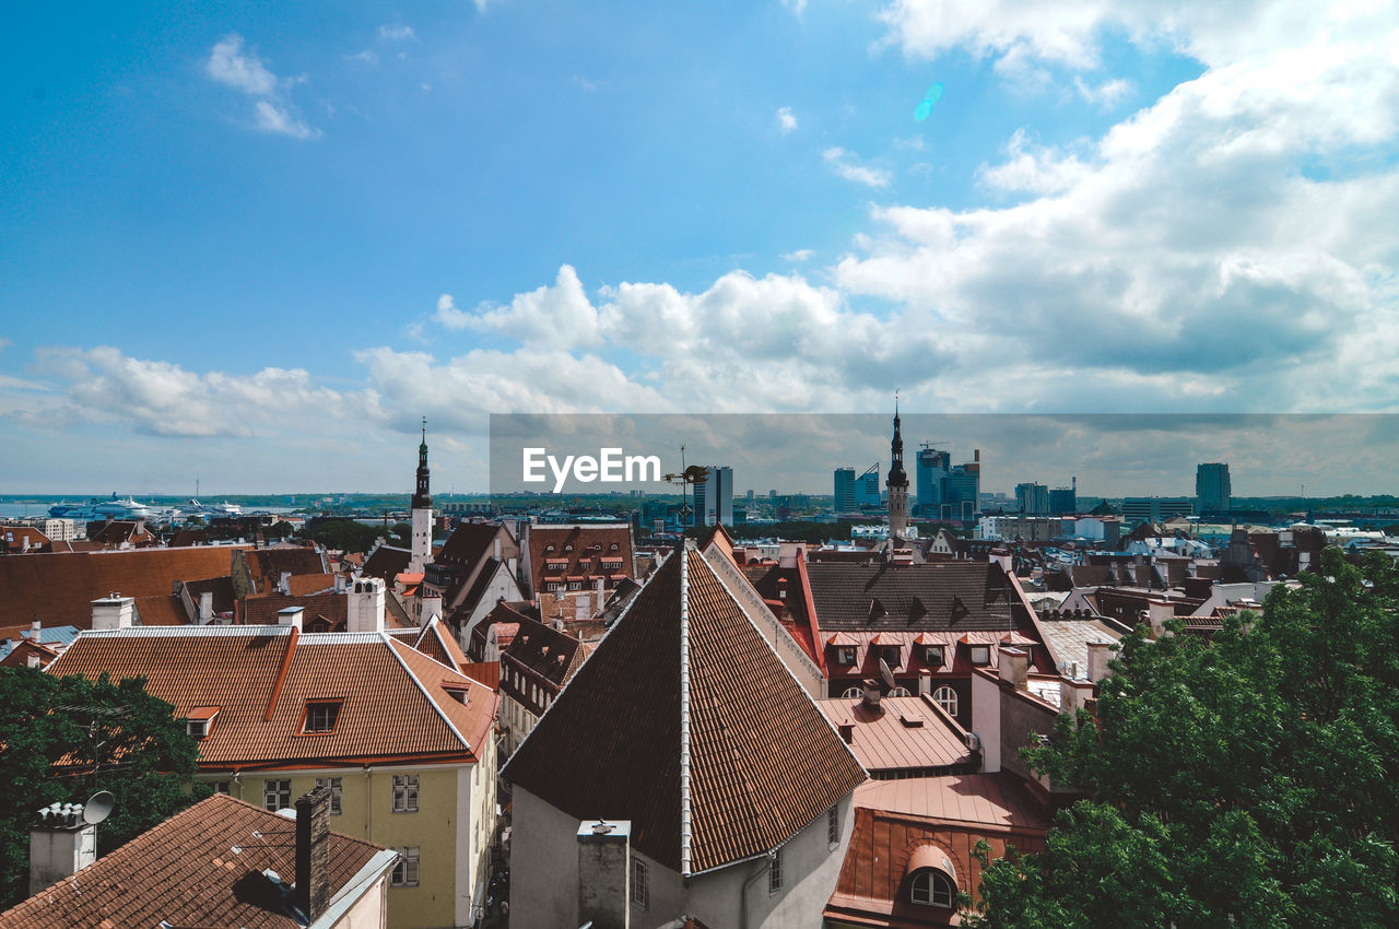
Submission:
<svg viewBox="0 0 1399 929">
<path fill-rule="evenodd" d="M 0 625 L 28 623 L 92 628 L 92 600 L 171 596 L 175 581 L 228 576 L 234 546 L 136 548 L 0 558 Z"/>
</svg>

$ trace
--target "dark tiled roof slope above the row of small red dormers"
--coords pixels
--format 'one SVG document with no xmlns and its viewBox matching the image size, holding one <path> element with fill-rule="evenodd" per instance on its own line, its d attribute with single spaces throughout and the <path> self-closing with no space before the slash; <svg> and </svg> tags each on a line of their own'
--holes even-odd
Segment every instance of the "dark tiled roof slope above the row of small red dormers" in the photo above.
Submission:
<svg viewBox="0 0 1399 929">
<path fill-rule="evenodd" d="M 1009 630 L 1011 616 L 1014 628 L 1031 625 L 1028 611 L 995 562 L 817 562 L 807 565 L 806 572 L 823 632 Z"/>
</svg>

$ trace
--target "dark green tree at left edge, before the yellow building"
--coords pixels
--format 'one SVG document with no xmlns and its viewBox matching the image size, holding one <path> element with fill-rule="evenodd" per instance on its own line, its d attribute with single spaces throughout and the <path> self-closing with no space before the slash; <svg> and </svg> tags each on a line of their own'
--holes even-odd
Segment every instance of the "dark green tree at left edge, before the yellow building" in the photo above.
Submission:
<svg viewBox="0 0 1399 929">
<path fill-rule="evenodd" d="M 28 895 L 29 824 L 50 803 L 116 799 L 98 827 L 105 853 L 208 796 L 193 781 L 199 743 L 144 679 L 53 677 L 0 667 L 0 894 Z"/>
</svg>

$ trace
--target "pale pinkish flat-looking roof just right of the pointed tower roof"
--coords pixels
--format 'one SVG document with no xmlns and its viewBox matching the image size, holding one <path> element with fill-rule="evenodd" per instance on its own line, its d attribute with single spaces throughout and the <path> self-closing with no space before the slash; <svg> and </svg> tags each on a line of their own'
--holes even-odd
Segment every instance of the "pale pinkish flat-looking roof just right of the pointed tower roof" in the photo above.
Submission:
<svg viewBox="0 0 1399 929">
<path fill-rule="evenodd" d="M 884 697 L 879 712 L 849 697 L 818 700 L 816 705 L 832 726 L 853 725 L 851 750 L 870 776 L 979 764 L 979 753 L 967 747 L 967 730 L 930 697 Z"/>
</svg>

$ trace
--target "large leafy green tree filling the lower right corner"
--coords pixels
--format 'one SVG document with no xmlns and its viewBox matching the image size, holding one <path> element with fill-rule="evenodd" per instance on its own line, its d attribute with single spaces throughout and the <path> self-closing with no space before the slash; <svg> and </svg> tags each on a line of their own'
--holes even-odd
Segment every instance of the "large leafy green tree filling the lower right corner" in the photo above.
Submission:
<svg viewBox="0 0 1399 929">
<path fill-rule="evenodd" d="M 1087 799 L 967 923 L 1399 925 L 1399 572 L 1336 548 L 1212 642 L 1122 639 L 1027 761 Z"/>
</svg>

